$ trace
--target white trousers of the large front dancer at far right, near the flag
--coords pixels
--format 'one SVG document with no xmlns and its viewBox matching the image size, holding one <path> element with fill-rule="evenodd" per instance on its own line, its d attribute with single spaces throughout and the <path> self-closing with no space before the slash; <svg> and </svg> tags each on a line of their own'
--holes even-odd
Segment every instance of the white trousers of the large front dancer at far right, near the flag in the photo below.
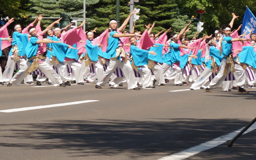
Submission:
<svg viewBox="0 0 256 160">
<path fill-rule="evenodd" d="M 224 69 L 225 69 L 225 65 L 227 64 L 227 59 L 222 59 L 221 61 L 221 68 L 219 70 L 218 75 L 216 75 L 213 80 L 211 81 L 211 83 L 208 85 L 208 88 L 217 88 L 220 84 L 222 84 L 222 82 L 224 81 L 224 79 L 226 78 L 226 75 L 224 75 Z M 236 62 L 234 62 L 235 64 L 235 72 L 234 72 L 234 77 L 236 80 L 236 86 L 238 87 L 244 87 L 245 85 L 245 70 L 243 69 L 243 67 L 241 67 L 239 64 L 237 64 Z M 228 64 L 228 71 L 227 71 L 227 75 L 230 72 L 230 64 Z"/>
</svg>

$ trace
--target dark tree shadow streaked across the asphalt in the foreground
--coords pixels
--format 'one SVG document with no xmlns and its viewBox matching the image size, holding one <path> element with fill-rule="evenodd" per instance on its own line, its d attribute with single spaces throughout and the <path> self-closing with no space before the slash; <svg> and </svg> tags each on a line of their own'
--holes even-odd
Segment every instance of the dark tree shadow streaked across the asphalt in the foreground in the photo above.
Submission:
<svg viewBox="0 0 256 160">
<path fill-rule="evenodd" d="M 45 123 L 5 124 L 0 125 L 4 128 L 0 131 L 0 137 L 12 140 L 10 143 L 0 142 L 0 146 L 24 149 L 64 149 L 66 153 L 70 153 L 70 157 L 134 153 L 130 158 L 135 159 L 159 155 L 159 153 L 170 155 L 233 132 L 244 127 L 249 121 L 236 119 L 151 119 L 151 121 L 97 119 L 95 121 L 59 120 Z M 3 132 L 8 134 L 2 134 Z M 251 134 L 243 140 L 247 140 L 248 143 L 252 138 L 255 139 L 255 135 Z M 19 143 L 21 140 L 24 142 L 24 139 L 26 143 Z M 253 143 L 255 144 L 256 141 L 254 140 Z M 227 148 L 223 144 L 219 157 L 235 154 L 235 160 L 241 160 L 246 159 L 249 153 L 255 156 L 255 145 L 251 148 L 242 147 L 241 144 L 240 148 L 235 147 L 235 152 L 232 151 L 233 148 Z M 208 159 L 214 158 L 205 157 L 204 160 Z M 227 157 L 225 159 L 227 160 Z"/>
</svg>

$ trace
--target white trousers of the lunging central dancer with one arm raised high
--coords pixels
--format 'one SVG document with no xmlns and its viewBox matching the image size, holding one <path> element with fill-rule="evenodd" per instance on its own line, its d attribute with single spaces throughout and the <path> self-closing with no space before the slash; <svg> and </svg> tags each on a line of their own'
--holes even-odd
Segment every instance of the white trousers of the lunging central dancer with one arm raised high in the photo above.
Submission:
<svg viewBox="0 0 256 160">
<path fill-rule="evenodd" d="M 115 71 L 117 66 L 122 70 L 127 83 L 128 83 L 128 90 L 138 87 L 137 82 L 135 79 L 135 75 L 133 72 L 133 68 L 129 62 L 121 62 L 120 60 L 109 60 L 109 65 L 107 66 L 106 71 L 104 72 L 104 76 L 101 79 L 98 79 L 97 85 L 103 85 L 105 86 L 107 81 L 109 80 L 112 73 Z"/>
</svg>

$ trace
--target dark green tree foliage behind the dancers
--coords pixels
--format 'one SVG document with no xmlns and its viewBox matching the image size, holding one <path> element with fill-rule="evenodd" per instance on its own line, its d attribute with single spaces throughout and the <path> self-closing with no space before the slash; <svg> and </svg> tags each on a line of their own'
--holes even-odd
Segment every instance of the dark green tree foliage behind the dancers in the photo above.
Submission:
<svg viewBox="0 0 256 160">
<path fill-rule="evenodd" d="M 129 0 L 120 0 L 121 23 L 129 14 Z M 70 3 L 71 2 L 71 3 Z M 197 21 L 191 16 L 196 15 L 196 9 L 205 10 L 202 15 L 204 22 L 203 33 L 211 34 L 223 24 L 228 24 L 232 12 L 240 16 L 233 28 L 238 27 L 245 13 L 245 5 L 256 13 L 255 0 L 139 0 L 134 3 L 140 9 L 139 20 L 136 21 L 135 30 L 144 31 L 144 25 L 155 22 L 154 33 L 172 27 L 171 32 L 179 32 L 189 21 L 192 21 L 188 37 L 193 37 L 197 30 Z M 111 18 L 116 17 L 116 0 L 86 0 L 86 30 L 98 27 L 98 32 L 103 32 L 109 27 Z M 44 17 L 59 17 L 60 13 L 68 13 L 71 17 L 83 17 L 83 0 L 1 0 L 0 16 L 15 16 L 16 22 L 26 25 L 32 22 L 30 17 L 43 14 Z M 24 16 L 27 18 L 24 18 Z M 46 27 L 56 19 L 43 19 Z M 80 24 L 80 23 L 79 23 Z M 127 25 L 127 28 L 129 25 Z"/>
</svg>

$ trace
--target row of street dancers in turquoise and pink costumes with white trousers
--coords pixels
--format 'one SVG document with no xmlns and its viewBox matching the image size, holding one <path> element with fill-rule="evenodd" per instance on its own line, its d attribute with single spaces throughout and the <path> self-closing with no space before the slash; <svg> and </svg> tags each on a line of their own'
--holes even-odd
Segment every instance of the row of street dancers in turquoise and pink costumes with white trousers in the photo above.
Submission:
<svg viewBox="0 0 256 160">
<path fill-rule="evenodd" d="M 223 91 L 238 89 L 239 93 L 248 93 L 246 84 L 255 87 L 256 34 L 239 35 L 241 25 L 231 31 L 238 17 L 234 13 L 231 22 L 214 35 L 197 38 L 196 33 L 192 40 L 186 37 L 191 22 L 179 33 L 168 33 L 170 27 L 154 34 L 155 23 L 145 25 L 144 32 L 134 32 L 134 23 L 128 32 L 125 27 L 133 14 L 135 10 L 120 27 L 110 20 L 99 37 L 94 37 L 96 29 L 83 31 L 85 21 L 69 30 L 70 25 L 54 27 L 61 18 L 42 31 L 42 15 L 23 30 L 15 24 L 10 37 L 11 18 L 0 28 L 0 50 L 11 46 L 0 85 L 19 85 L 23 80 L 29 84 L 33 74 L 37 85 L 48 79 L 48 84 L 61 87 L 86 82 L 101 89 L 107 82 L 109 87 L 126 82 L 128 90 L 140 90 L 165 87 L 169 80 L 178 86 L 193 82 L 191 90 L 207 92 L 219 85 Z M 15 68 L 19 70 L 13 75 Z"/>
</svg>

